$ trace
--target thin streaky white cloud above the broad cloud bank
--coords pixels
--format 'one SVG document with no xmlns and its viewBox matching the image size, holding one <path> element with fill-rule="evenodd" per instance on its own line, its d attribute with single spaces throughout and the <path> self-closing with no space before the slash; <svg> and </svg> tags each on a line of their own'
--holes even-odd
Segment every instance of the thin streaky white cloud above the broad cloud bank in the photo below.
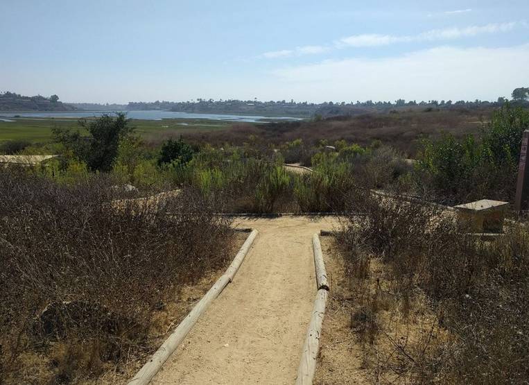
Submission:
<svg viewBox="0 0 529 385">
<path fill-rule="evenodd" d="M 433 29 L 431 31 L 419 33 L 418 35 L 352 35 L 349 37 L 343 37 L 338 40 L 335 45 L 337 48 L 344 48 L 346 46 L 382 46 L 394 43 L 453 40 L 462 37 L 508 32 L 512 31 L 516 26 L 516 22 L 510 22 L 502 24 L 486 24 L 484 26 L 468 26 L 465 28 L 453 27 Z"/>
</svg>

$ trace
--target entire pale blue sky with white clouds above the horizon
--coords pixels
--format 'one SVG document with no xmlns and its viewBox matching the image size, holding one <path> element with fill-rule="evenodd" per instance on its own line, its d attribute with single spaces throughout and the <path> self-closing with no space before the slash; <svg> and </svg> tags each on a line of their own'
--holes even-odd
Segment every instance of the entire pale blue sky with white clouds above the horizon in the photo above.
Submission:
<svg viewBox="0 0 529 385">
<path fill-rule="evenodd" d="M 529 86 L 528 23 L 527 0 L 0 0 L 0 91 L 495 100 Z"/>
</svg>

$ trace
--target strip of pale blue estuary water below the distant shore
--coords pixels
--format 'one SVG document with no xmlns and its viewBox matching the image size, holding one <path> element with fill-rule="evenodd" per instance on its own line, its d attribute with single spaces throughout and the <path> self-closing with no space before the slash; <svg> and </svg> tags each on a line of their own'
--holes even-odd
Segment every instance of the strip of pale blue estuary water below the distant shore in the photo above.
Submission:
<svg viewBox="0 0 529 385">
<path fill-rule="evenodd" d="M 248 123 L 279 121 L 279 120 L 302 120 L 293 117 L 261 117 L 258 115 L 232 115 L 232 114 L 194 114 L 191 112 L 173 111 L 120 111 L 125 112 L 128 118 L 143 120 L 162 119 L 207 119 L 220 121 L 241 121 Z M 82 111 L 82 112 L 0 112 L 0 118 L 89 118 L 101 117 L 103 114 L 114 114 L 110 111 Z"/>
</svg>

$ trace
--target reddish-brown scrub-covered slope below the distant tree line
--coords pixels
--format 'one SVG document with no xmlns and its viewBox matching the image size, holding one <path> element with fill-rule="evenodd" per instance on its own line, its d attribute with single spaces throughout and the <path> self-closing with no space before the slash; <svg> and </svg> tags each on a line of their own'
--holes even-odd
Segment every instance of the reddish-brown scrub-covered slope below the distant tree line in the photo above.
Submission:
<svg viewBox="0 0 529 385">
<path fill-rule="evenodd" d="M 421 137 L 437 139 L 442 131 L 451 132 L 456 137 L 478 132 L 482 127 L 481 121 L 489 119 L 492 110 L 440 110 L 428 113 L 409 110 L 399 114 L 372 113 L 322 121 L 283 121 L 257 125 L 237 123 L 229 130 L 186 133 L 184 139 L 237 146 L 248 142 L 250 136 L 257 137 L 267 146 L 278 146 L 297 138 L 302 138 L 307 146 L 314 146 L 322 139 L 327 139 L 329 143 L 345 139 L 361 146 L 368 146 L 374 140 L 380 140 L 383 144 L 414 157 L 421 147 Z"/>
</svg>

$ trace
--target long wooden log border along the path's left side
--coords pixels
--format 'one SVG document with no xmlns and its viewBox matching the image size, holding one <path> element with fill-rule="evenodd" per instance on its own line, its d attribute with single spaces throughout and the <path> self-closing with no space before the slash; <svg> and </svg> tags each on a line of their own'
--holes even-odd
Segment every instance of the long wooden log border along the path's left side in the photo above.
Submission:
<svg viewBox="0 0 529 385">
<path fill-rule="evenodd" d="M 243 243 L 243 246 L 239 250 L 239 253 L 235 256 L 232 264 L 229 265 L 226 272 L 215 282 L 215 284 L 209 289 L 204 297 L 193 307 L 189 314 L 182 320 L 168 339 L 159 347 L 159 349 L 150 357 L 149 361 L 139 370 L 138 373 L 128 382 L 129 385 L 146 385 L 150 382 L 153 377 L 158 373 L 162 365 L 167 361 L 171 354 L 175 352 L 180 343 L 184 340 L 185 336 L 189 333 L 196 321 L 209 307 L 211 302 L 218 297 L 220 292 L 232 282 L 235 274 L 241 267 L 244 258 L 248 254 L 252 243 L 257 237 L 257 230 L 252 230 L 248 238 Z"/>
</svg>

